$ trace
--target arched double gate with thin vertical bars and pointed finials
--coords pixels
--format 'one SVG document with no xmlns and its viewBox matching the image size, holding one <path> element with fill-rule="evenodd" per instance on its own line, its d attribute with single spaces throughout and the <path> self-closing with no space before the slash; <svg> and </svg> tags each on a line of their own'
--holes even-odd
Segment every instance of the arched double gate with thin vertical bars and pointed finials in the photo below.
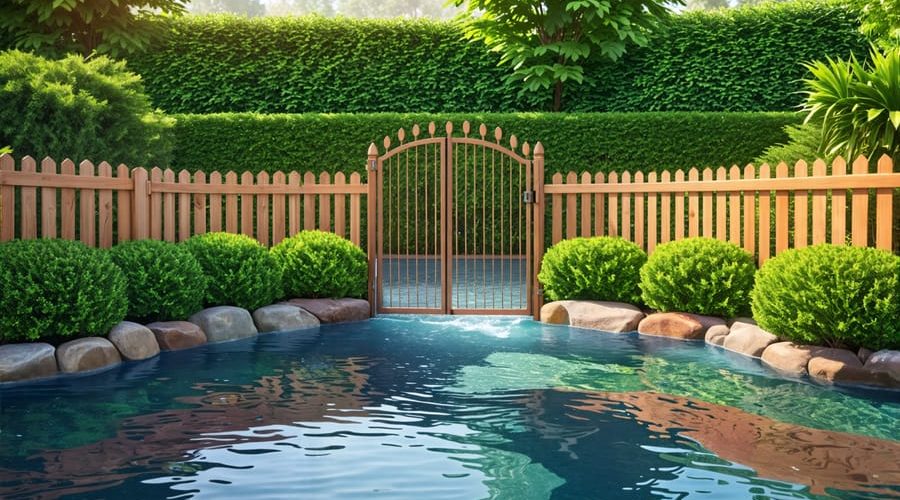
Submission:
<svg viewBox="0 0 900 500">
<path fill-rule="evenodd" d="M 424 133 L 423 133 L 424 132 Z M 543 147 L 448 122 L 369 147 L 374 313 L 535 314 L 543 253 Z M 493 140 L 491 140 L 493 139 Z"/>
</svg>

